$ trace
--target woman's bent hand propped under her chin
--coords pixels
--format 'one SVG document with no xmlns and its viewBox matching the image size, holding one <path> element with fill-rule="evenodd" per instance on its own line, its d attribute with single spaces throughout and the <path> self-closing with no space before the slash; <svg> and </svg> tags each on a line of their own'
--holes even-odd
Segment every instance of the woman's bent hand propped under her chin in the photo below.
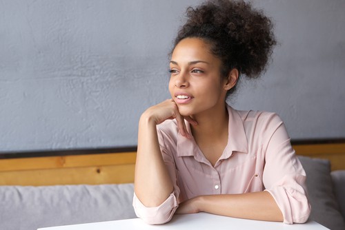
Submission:
<svg viewBox="0 0 345 230">
<path fill-rule="evenodd" d="M 186 138 L 191 138 L 192 136 L 187 132 L 184 120 L 188 121 L 192 125 L 197 125 L 197 122 L 190 116 L 181 116 L 181 114 L 179 114 L 179 108 L 172 99 L 168 99 L 148 108 L 141 117 L 154 121 L 155 125 L 159 125 L 168 119 L 176 119 L 179 132 Z"/>
</svg>

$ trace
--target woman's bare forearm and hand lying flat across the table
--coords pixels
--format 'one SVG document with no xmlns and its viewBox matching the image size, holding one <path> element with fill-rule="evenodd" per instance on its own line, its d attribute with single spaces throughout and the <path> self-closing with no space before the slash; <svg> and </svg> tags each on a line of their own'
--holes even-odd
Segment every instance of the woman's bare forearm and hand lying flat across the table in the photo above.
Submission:
<svg viewBox="0 0 345 230">
<path fill-rule="evenodd" d="M 181 203 L 176 213 L 199 211 L 251 220 L 283 221 L 282 211 L 268 191 L 198 196 Z"/>
</svg>

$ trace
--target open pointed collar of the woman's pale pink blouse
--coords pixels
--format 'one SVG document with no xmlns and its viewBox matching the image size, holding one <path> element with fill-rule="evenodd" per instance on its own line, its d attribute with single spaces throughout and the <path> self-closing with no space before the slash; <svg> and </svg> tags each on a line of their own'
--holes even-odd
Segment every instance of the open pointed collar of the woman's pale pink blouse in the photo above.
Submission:
<svg viewBox="0 0 345 230">
<path fill-rule="evenodd" d="M 221 158 L 230 157 L 231 154 L 233 154 L 233 151 L 248 153 L 248 142 L 242 118 L 237 110 L 233 109 L 229 105 L 226 107 L 229 114 L 228 145 L 226 145 Z M 185 123 L 187 131 L 191 134 L 190 124 L 188 121 L 185 121 Z M 199 152 L 199 147 L 197 146 L 197 143 L 195 143 L 194 138 L 188 139 L 180 133 L 177 135 L 177 156 L 197 156 L 197 152 Z"/>
</svg>

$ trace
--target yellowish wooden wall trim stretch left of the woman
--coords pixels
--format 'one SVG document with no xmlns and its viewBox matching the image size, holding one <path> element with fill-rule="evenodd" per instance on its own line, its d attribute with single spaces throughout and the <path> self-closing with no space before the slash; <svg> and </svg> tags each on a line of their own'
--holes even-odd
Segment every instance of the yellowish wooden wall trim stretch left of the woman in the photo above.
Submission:
<svg viewBox="0 0 345 230">
<path fill-rule="evenodd" d="M 134 182 L 135 151 L 0 160 L 0 185 L 100 185 Z"/>
</svg>

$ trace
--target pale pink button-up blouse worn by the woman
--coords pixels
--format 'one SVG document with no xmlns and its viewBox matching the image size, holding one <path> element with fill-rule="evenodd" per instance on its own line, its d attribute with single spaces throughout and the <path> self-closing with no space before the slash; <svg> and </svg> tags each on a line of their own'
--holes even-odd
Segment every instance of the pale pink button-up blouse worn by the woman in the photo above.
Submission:
<svg viewBox="0 0 345 230">
<path fill-rule="evenodd" d="M 228 106 L 228 145 L 215 166 L 195 140 L 179 134 L 175 120 L 157 125 L 159 145 L 174 191 L 159 207 L 133 207 L 150 224 L 168 222 L 180 202 L 200 195 L 268 191 L 288 224 L 308 220 L 306 174 L 290 145 L 284 123 L 270 112 L 238 111 Z M 188 132 L 190 125 L 187 123 Z"/>
</svg>

